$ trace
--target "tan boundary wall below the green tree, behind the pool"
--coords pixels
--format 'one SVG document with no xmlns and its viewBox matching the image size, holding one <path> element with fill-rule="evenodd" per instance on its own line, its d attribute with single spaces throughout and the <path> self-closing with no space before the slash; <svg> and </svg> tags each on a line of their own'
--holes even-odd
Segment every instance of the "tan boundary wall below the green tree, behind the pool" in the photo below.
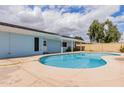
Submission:
<svg viewBox="0 0 124 93">
<path fill-rule="evenodd" d="M 85 47 L 85 51 L 119 52 L 122 45 L 124 46 L 124 43 L 96 43 L 82 44 L 81 46 Z"/>
</svg>

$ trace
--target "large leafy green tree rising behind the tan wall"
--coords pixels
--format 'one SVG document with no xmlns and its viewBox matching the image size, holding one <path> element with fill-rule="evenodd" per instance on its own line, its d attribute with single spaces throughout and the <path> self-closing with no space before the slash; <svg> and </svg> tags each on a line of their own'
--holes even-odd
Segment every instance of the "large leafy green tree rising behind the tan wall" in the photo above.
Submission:
<svg viewBox="0 0 124 93">
<path fill-rule="evenodd" d="M 88 36 L 91 42 L 110 43 L 118 42 L 121 34 L 112 21 L 107 19 L 104 23 L 94 20 L 89 27 Z"/>
</svg>

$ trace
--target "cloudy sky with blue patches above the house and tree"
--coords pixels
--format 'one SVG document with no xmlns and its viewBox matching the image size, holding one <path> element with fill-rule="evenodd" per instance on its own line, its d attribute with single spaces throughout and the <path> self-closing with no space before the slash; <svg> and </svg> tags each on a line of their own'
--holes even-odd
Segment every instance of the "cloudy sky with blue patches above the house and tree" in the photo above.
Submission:
<svg viewBox="0 0 124 93">
<path fill-rule="evenodd" d="M 0 21 L 89 41 L 87 31 L 93 20 L 110 19 L 124 32 L 124 6 L 25 5 L 0 6 Z"/>
</svg>

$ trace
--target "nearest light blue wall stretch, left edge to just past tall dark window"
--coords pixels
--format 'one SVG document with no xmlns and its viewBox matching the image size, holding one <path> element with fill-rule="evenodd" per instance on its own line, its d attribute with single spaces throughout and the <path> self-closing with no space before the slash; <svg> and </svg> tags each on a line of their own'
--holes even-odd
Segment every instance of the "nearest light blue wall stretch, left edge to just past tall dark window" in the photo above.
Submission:
<svg viewBox="0 0 124 93">
<path fill-rule="evenodd" d="M 34 37 L 0 32 L 0 58 L 42 54 L 42 38 L 39 37 L 40 51 L 34 51 Z"/>
</svg>

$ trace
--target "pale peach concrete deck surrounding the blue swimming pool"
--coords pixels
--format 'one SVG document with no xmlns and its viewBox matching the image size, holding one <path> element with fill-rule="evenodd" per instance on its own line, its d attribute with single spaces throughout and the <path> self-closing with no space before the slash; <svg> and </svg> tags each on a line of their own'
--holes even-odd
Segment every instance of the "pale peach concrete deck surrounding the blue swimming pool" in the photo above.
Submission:
<svg viewBox="0 0 124 93">
<path fill-rule="evenodd" d="M 107 64 L 90 69 L 43 65 L 38 61 L 42 56 L 1 59 L 0 86 L 124 87 L 124 61 L 116 60 L 120 56 L 103 56 Z"/>
</svg>

